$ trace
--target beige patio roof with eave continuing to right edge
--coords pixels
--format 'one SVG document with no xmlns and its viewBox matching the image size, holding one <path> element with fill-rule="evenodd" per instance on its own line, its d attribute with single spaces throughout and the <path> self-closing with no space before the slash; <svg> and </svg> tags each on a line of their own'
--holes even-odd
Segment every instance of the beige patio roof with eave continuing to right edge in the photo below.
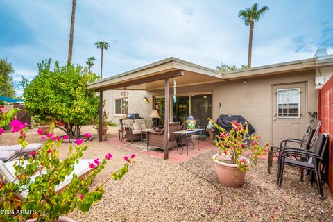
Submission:
<svg viewBox="0 0 333 222">
<path fill-rule="evenodd" d="M 185 87 L 189 85 L 216 83 L 225 80 L 237 80 L 258 76 L 292 73 L 295 71 L 305 71 L 332 64 L 333 56 L 328 55 L 305 60 L 264 65 L 250 69 L 229 71 L 221 74 L 221 72 L 217 70 L 171 57 L 153 62 L 144 67 L 126 71 L 116 76 L 98 80 L 94 83 L 89 83 L 88 89 L 94 89 L 96 92 L 101 92 L 110 89 L 123 89 L 123 87 L 126 86 L 129 90 L 153 91 L 164 89 L 165 78 L 176 78 L 177 87 Z M 172 80 L 170 85 L 171 87 L 173 86 Z"/>
</svg>

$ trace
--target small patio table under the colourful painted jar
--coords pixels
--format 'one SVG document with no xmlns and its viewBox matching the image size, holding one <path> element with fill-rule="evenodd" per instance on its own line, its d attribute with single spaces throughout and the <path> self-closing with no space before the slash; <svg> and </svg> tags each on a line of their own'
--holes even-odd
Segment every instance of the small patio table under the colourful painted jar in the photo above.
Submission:
<svg viewBox="0 0 333 222">
<path fill-rule="evenodd" d="M 199 142 L 200 139 L 202 139 L 203 137 L 203 131 L 205 129 L 199 129 L 196 128 L 193 131 L 187 131 L 187 130 L 180 130 L 180 131 L 176 131 L 174 133 L 176 133 L 177 137 L 180 139 L 180 144 L 182 146 L 182 153 L 184 153 L 184 146 L 186 146 L 186 153 L 187 155 L 189 155 L 189 145 L 191 144 L 191 146 L 194 147 L 196 146 L 196 143 L 194 142 L 194 135 L 198 135 L 198 150 L 200 150 L 199 148 Z M 180 153 L 180 154 L 182 154 Z"/>
</svg>

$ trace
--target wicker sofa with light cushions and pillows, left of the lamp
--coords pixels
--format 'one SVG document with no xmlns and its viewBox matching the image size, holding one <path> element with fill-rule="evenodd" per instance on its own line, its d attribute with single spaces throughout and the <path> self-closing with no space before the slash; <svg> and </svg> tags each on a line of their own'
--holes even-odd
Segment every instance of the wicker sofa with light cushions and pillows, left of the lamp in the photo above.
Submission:
<svg viewBox="0 0 333 222">
<path fill-rule="evenodd" d="M 120 119 L 120 126 L 123 133 L 123 140 L 130 143 L 141 139 L 141 130 L 146 130 L 145 119 Z"/>
</svg>

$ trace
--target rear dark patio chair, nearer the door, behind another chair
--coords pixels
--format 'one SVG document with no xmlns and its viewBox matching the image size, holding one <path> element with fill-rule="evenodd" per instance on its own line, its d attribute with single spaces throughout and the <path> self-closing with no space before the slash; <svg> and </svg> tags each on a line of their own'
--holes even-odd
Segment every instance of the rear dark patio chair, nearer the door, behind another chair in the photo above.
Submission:
<svg viewBox="0 0 333 222">
<path fill-rule="evenodd" d="M 268 169 L 267 173 L 271 173 L 271 169 L 273 166 L 273 157 L 278 158 L 278 162 L 280 162 L 280 153 L 284 148 L 287 148 L 289 146 L 294 146 L 295 144 L 299 144 L 298 148 L 303 148 L 306 150 L 309 150 L 316 139 L 316 136 L 318 135 L 319 128 L 321 127 L 321 121 L 319 120 L 310 120 L 307 124 L 307 128 L 305 128 L 305 133 L 303 134 L 302 139 L 284 139 L 280 143 L 279 147 L 271 146 L 270 151 L 268 152 Z M 289 155 L 288 156 L 291 159 L 294 160 L 300 160 L 299 156 L 296 155 Z M 303 180 L 303 173 L 301 171 L 301 180 Z"/>
</svg>

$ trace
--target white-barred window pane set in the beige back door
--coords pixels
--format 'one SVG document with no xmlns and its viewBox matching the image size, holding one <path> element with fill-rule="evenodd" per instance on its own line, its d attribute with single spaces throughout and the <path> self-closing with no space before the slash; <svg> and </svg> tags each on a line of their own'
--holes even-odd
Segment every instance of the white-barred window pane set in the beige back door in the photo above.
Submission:
<svg viewBox="0 0 333 222">
<path fill-rule="evenodd" d="M 278 117 L 300 117 L 300 89 L 278 89 Z"/>
</svg>

